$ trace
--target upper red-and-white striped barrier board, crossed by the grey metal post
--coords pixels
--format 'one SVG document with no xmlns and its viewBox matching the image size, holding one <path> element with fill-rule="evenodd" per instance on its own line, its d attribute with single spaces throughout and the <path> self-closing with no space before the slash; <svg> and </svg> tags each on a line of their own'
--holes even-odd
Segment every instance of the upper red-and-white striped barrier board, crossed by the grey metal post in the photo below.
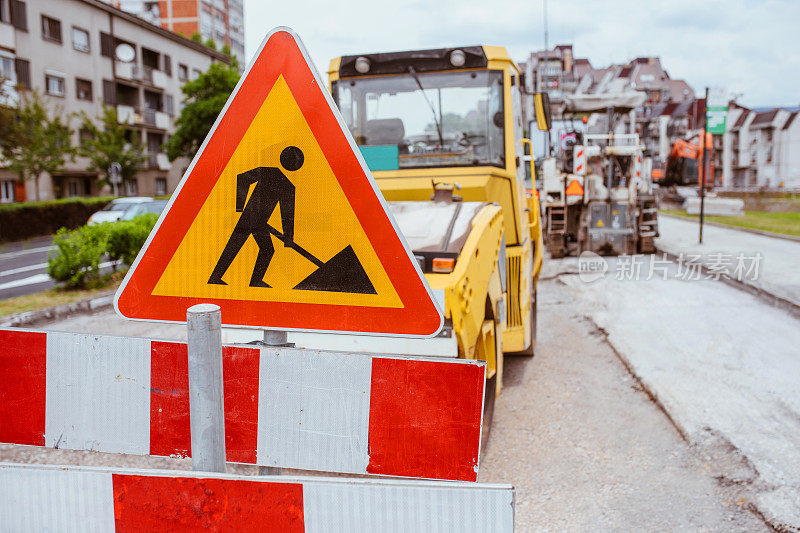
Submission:
<svg viewBox="0 0 800 533">
<path fill-rule="evenodd" d="M 475 481 L 485 363 L 225 346 L 228 461 Z M 186 344 L 0 329 L 0 442 L 190 456 Z"/>
</svg>

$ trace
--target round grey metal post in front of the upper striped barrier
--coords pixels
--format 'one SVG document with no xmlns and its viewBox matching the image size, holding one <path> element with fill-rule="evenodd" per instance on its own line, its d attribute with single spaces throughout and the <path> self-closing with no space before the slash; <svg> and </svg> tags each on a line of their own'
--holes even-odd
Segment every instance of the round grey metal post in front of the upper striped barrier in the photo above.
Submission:
<svg viewBox="0 0 800 533">
<path fill-rule="evenodd" d="M 198 304 L 186 311 L 192 469 L 203 472 L 225 472 L 221 318 L 214 304 Z"/>
</svg>

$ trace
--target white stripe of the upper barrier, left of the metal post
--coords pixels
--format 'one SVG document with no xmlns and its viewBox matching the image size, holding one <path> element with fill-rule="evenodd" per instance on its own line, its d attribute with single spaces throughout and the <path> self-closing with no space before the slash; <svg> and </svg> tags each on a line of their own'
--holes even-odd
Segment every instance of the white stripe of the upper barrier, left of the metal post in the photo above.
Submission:
<svg viewBox="0 0 800 533">
<path fill-rule="evenodd" d="M 47 334 L 45 446 L 150 453 L 150 341 Z"/>
</svg>

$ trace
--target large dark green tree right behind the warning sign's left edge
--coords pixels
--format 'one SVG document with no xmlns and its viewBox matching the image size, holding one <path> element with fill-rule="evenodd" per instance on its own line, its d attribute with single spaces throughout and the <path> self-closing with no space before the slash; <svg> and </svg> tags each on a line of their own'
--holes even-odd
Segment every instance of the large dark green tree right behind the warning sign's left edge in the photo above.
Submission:
<svg viewBox="0 0 800 533">
<path fill-rule="evenodd" d="M 225 102 L 239 82 L 239 63 L 212 63 L 208 70 L 181 89 L 184 108 L 175 120 L 176 130 L 166 144 L 170 161 L 194 157 Z"/>
</svg>

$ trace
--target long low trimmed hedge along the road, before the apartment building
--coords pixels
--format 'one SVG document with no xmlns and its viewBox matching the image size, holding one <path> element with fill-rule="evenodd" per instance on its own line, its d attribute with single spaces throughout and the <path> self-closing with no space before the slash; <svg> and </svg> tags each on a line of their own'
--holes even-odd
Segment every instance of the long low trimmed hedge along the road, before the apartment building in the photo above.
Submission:
<svg viewBox="0 0 800 533">
<path fill-rule="evenodd" d="M 50 235 L 60 228 L 78 228 L 111 200 L 111 197 L 69 198 L 0 205 L 0 242 Z"/>
</svg>

